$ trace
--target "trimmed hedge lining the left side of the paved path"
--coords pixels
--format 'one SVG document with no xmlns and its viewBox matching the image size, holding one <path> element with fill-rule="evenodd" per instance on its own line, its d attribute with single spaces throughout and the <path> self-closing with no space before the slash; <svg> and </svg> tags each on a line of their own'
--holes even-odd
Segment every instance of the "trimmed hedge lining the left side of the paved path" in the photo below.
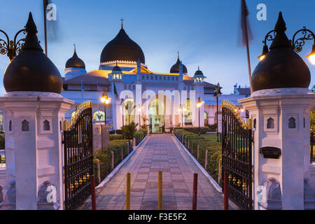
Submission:
<svg viewBox="0 0 315 224">
<path fill-rule="evenodd" d="M 106 176 L 113 170 L 111 167 L 112 155 L 111 151 L 113 151 L 114 155 L 114 169 L 117 165 L 123 161 L 124 158 L 128 155 L 127 148 L 128 140 L 112 140 L 109 141 L 109 146 L 103 148 L 102 150 L 94 152 L 93 165 L 94 165 L 94 176 L 97 177 L 97 162 L 96 159 L 99 160 L 100 163 L 100 173 L 101 173 L 101 181 L 106 178 Z M 122 157 L 123 150 L 123 157 Z M 129 153 L 132 151 L 132 145 L 129 144 Z M 98 179 L 95 180 L 96 185 L 99 184 Z"/>
</svg>

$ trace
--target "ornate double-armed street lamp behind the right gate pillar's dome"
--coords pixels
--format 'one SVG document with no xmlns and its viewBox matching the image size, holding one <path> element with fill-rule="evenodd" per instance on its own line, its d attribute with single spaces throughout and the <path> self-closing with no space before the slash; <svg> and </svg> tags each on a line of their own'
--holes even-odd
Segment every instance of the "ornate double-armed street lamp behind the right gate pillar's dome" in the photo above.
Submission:
<svg viewBox="0 0 315 224">
<path fill-rule="evenodd" d="M 282 17 L 282 15 L 281 15 Z M 295 39 L 297 34 L 302 34 L 302 37 Z M 265 56 L 267 55 L 267 52 L 269 52 L 269 48 L 267 45 L 267 41 L 273 41 L 276 36 L 276 29 L 273 29 L 272 31 L 269 31 L 267 35 L 265 36 L 265 40 L 262 41 L 264 43 L 264 47 L 262 48 L 262 54 L 258 56 L 258 59 L 263 60 Z M 295 52 L 301 52 L 303 46 L 305 45 L 305 41 L 314 40 L 313 48 L 311 50 L 311 53 L 307 55 L 307 58 L 309 59 L 309 62 L 311 64 L 315 65 L 315 34 L 311 30 L 307 29 L 306 27 L 303 27 L 303 29 L 300 29 L 295 32 L 293 35 L 292 41 L 290 41 L 291 47 Z"/>
</svg>

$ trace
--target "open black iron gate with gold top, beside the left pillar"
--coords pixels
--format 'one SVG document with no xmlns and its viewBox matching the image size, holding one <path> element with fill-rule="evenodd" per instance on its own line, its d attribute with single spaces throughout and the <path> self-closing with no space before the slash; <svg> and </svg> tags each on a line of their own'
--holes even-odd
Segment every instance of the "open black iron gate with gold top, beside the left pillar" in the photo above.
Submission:
<svg viewBox="0 0 315 224">
<path fill-rule="evenodd" d="M 91 195 L 92 102 L 80 104 L 64 122 L 64 208 L 77 209 Z"/>
</svg>

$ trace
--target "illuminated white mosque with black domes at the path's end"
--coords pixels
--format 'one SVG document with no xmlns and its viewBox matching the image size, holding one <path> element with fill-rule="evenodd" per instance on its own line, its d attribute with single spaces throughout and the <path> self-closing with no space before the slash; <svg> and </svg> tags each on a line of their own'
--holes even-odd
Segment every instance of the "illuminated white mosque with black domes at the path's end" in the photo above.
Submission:
<svg viewBox="0 0 315 224">
<path fill-rule="evenodd" d="M 145 122 L 153 133 L 216 122 L 216 85 L 207 83 L 199 68 L 188 73 L 179 55 L 168 73 L 149 70 L 143 50 L 127 35 L 123 21 L 116 37 L 102 50 L 99 69 L 87 72 L 76 48 L 65 67 L 62 96 L 76 102 L 66 113 L 68 120 L 76 105 L 90 100 L 93 121 L 104 122 L 106 116 L 111 130 L 132 121 Z M 110 99 L 106 106 L 100 100 L 102 95 Z M 221 95 L 219 104 L 222 99 L 238 104 L 237 99 L 244 97 Z"/>
</svg>

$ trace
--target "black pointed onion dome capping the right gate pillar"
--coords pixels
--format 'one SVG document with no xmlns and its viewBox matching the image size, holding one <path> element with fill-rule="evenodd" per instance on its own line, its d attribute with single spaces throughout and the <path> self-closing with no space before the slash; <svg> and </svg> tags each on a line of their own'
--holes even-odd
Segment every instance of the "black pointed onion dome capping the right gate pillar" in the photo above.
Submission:
<svg viewBox="0 0 315 224">
<path fill-rule="evenodd" d="M 276 22 L 276 36 L 265 55 L 253 71 L 251 87 L 253 92 L 285 87 L 309 87 L 311 74 L 307 64 L 293 50 L 285 34 L 286 23 L 279 13 Z"/>
</svg>

